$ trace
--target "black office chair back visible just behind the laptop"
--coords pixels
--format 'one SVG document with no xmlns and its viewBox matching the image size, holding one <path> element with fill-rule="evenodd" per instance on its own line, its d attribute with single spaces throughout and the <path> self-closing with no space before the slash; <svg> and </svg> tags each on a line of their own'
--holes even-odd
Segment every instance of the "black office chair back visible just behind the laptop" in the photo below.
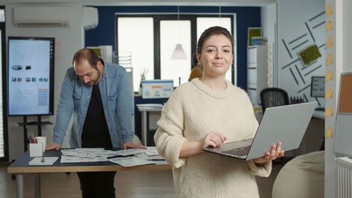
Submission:
<svg viewBox="0 0 352 198">
<path fill-rule="evenodd" d="M 284 89 L 275 87 L 265 88 L 260 91 L 260 102 L 264 113 L 268 107 L 289 104 L 289 95 Z"/>
</svg>

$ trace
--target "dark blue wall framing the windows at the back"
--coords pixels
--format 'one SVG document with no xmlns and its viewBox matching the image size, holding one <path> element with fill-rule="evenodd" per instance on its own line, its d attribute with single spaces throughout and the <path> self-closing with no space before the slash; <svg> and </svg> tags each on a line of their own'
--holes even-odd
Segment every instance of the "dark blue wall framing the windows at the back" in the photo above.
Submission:
<svg viewBox="0 0 352 198">
<path fill-rule="evenodd" d="M 115 13 L 177 13 L 177 6 L 98 6 L 99 25 L 85 32 L 85 46 L 112 45 L 115 49 Z M 218 6 L 180 6 L 180 13 L 219 13 Z M 260 7 L 221 7 L 237 17 L 237 85 L 247 89 L 247 30 L 260 27 Z"/>
</svg>

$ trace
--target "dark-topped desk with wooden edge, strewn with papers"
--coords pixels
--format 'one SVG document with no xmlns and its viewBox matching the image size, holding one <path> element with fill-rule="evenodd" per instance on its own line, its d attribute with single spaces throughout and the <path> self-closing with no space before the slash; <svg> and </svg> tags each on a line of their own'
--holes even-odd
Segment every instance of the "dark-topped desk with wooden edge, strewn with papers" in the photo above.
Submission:
<svg viewBox="0 0 352 198">
<path fill-rule="evenodd" d="M 7 168 L 8 173 L 16 174 L 17 197 L 23 198 L 23 173 L 34 173 L 34 197 L 40 198 L 40 173 L 68 173 L 92 171 L 153 171 L 169 170 L 171 166 L 165 161 L 155 161 L 156 164 L 124 167 L 110 161 L 89 163 L 60 163 L 61 151 L 45 151 L 44 156 L 58 156 L 52 166 L 28 166 L 30 152 L 26 151 L 20 158 Z"/>
</svg>

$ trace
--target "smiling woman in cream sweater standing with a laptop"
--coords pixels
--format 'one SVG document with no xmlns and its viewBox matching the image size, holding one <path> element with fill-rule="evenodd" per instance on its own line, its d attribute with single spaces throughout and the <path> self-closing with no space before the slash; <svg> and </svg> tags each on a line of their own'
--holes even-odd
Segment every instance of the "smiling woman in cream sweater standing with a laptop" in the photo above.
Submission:
<svg viewBox="0 0 352 198">
<path fill-rule="evenodd" d="M 197 45 L 203 76 L 175 89 L 158 120 L 154 141 L 172 165 L 177 197 L 259 197 L 254 175 L 268 177 L 281 143 L 250 161 L 205 153 L 227 140 L 253 138 L 258 123 L 244 90 L 225 80 L 234 42 L 223 27 L 210 27 Z"/>
</svg>

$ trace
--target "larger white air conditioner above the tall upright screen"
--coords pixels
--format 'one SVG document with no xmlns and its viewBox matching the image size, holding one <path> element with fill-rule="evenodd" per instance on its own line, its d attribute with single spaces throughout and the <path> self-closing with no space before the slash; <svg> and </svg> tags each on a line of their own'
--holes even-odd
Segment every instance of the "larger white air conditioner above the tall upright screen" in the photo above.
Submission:
<svg viewBox="0 0 352 198">
<path fill-rule="evenodd" d="M 18 27 L 68 27 L 70 8 L 26 6 L 13 8 L 13 25 Z"/>
</svg>

